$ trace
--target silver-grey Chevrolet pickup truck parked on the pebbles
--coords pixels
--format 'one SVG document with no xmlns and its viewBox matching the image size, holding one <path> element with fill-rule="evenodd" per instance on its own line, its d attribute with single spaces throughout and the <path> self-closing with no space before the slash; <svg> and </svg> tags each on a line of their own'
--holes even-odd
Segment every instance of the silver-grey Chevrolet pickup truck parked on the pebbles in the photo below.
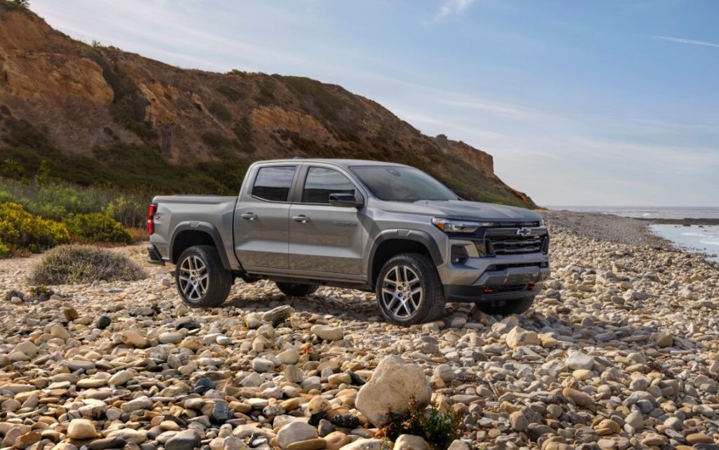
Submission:
<svg viewBox="0 0 719 450">
<path fill-rule="evenodd" d="M 414 167 L 362 160 L 256 162 L 237 197 L 157 196 L 150 262 L 175 265 L 180 297 L 220 306 L 237 277 L 286 295 L 374 291 L 383 316 L 432 321 L 447 300 L 526 311 L 549 276 L 539 214 L 464 201 Z"/>
</svg>

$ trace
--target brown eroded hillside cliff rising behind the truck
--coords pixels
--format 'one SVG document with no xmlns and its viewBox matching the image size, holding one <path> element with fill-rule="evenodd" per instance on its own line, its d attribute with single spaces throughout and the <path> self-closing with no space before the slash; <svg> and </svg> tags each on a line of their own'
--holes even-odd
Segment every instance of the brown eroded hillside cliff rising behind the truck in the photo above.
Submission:
<svg viewBox="0 0 719 450">
<path fill-rule="evenodd" d="M 487 153 L 427 137 L 340 86 L 175 68 L 77 42 L 0 1 L 0 152 L 17 156 L 18 146 L 32 146 L 20 125 L 63 155 L 105 155 L 103 164 L 128 146 L 199 170 L 293 156 L 393 160 L 428 171 L 466 198 L 533 206 L 495 175 Z M 38 148 L 28 155 L 21 163 L 29 166 L 48 157 Z"/>
</svg>

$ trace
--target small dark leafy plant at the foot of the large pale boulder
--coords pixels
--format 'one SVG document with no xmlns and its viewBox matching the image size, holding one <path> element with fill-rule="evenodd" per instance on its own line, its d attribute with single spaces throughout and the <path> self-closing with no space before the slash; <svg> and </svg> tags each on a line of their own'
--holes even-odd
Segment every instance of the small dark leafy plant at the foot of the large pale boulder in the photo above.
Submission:
<svg viewBox="0 0 719 450">
<path fill-rule="evenodd" d="M 461 435 L 462 418 L 452 408 L 439 408 L 432 402 L 426 408 L 412 399 L 409 412 L 385 426 L 385 434 L 395 440 L 401 434 L 424 438 L 436 450 L 444 450 Z"/>
</svg>

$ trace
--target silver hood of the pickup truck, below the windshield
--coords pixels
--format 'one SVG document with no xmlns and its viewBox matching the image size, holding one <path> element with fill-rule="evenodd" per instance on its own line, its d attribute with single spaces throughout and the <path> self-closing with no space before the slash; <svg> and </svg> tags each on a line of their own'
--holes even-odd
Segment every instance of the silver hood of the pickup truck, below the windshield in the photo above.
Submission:
<svg viewBox="0 0 719 450">
<path fill-rule="evenodd" d="M 539 221 L 541 216 L 534 211 L 516 206 L 481 203 L 478 201 L 437 201 L 421 200 L 414 203 L 395 201 L 383 202 L 385 211 L 414 213 L 426 216 L 446 217 L 467 221 Z"/>
</svg>

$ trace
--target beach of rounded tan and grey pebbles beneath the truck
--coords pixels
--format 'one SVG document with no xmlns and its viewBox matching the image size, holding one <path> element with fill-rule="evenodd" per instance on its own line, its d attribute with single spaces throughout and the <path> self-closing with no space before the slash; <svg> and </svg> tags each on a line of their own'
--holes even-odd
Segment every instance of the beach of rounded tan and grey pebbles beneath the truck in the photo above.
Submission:
<svg viewBox="0 0 719 450">
<path fill-rule="evenodd" d="M 11 298 L 0 446 L 422 449 L 376 428 L 409 386 L 461 415 L 452 450 L 719 449 L 719 269 L 639 221 L 577 214 L 546 213 L 553 274 L 522 316 L 450 304 L 402 328 L 372 294 L 287 298 L 264 281 L 192 310 L 170 267 L 151 266 L 146 280 Z M 27 290 L 37 261 L 0 261 L 0 294 Z"/>
</svg>

